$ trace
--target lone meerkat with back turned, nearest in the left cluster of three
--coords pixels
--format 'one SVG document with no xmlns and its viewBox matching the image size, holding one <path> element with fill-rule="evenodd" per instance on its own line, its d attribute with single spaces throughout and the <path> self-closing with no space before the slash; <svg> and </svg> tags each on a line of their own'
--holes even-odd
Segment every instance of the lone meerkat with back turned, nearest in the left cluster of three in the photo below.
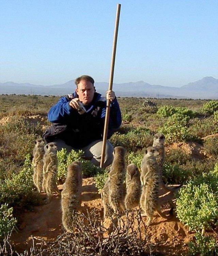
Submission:
<svg viewBox="0 0 218 256">
<path fill-rule="evenodd" d="M 73 232 L 75 212 L 81 206 L 82 164 L 74 161 L 67 167 L 67 176 L 61 192 L 62 224 L 67 232 Z"/>
</svg>

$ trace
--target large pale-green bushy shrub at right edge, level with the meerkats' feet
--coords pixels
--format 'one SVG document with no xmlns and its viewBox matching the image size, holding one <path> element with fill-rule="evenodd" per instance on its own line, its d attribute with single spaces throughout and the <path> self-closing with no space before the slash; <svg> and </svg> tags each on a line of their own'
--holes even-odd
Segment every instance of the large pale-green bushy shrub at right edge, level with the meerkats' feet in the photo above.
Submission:
<svg viewBox="0 0 218 256">
<path fill-rule="evenodd" d="M 190 230 L 204 230 L 218 219 L 218 165 L 182 187 L 177 197 L 177 216 Z"/>
</svg>

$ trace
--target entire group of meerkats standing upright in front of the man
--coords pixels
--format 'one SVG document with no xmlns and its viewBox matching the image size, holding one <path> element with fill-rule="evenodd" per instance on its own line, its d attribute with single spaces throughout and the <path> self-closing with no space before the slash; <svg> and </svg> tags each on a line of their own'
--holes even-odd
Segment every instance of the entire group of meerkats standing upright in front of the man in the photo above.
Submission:
<svg viewBox="0 0 218 256">
<path fill-rule="evenodd" d="M 145 150 L 141 162 L 141 174 L 135 164 L 126 168 L 126 194 L 124 195 L 125 154 L 123 147 L 114 148 L 114 159 L 110 167 L 108 179 L 101 191 L 104 208 L 104 218 L 121 216 L 125 210 L 137 206 L 142 210 L 141 216 L 147 216 L 146 225 L 150 225 L 155 210 L 165 218 L 172 217 L 163 214 L 158 203 L 159 188 L 175 192 L 180 186 L 173 189 L 162 181 L 162 168 L 165 161 L 165 136 L 155 134 L 152 147 Z M 82 164 L 74 161 L 67 167 L 66 180 L 60 193 L 56 184 L 58 169 L 57 146 L 55 142 L 45 145 L 42 138 L 37 138 L 33 149 L 33 182 L 38 192 L 45 192 L 48 198 L 53 192 L 61 194 L 62 224 L 67 232 L 73 232 L 75 213 L 81 206 L 82 192 Z M 172 204 L 173 205 L 173 204 Z"/>
</svg>

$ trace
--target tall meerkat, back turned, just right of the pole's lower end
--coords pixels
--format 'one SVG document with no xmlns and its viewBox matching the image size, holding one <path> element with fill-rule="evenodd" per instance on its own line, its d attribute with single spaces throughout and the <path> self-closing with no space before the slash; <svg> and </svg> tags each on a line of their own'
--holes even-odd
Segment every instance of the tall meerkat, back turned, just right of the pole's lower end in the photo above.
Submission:
<svg viewBox="0 0 218 256">
<path fill-rule="evenodd" d="M 108 174 L 109 204 L 112 207 L 116 216 L 125 211 L 123 193 L 123 180 L 125 174 L 125 154 L 125 148 L 114 148 L 114 159 Z"/>
</svg>

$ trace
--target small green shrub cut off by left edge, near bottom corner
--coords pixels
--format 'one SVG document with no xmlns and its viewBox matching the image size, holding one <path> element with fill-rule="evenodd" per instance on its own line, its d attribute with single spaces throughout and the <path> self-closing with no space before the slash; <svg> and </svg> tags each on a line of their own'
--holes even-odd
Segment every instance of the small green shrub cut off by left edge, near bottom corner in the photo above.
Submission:
<svg viewBox="0 0 218 256">
<path fill-rule="evenodd" d="M 14 229 L 16 223 L 13 208 L 8 208 L 8 204 L 2 204 L 0 206 L 0 242 Z"/>
</svg>

